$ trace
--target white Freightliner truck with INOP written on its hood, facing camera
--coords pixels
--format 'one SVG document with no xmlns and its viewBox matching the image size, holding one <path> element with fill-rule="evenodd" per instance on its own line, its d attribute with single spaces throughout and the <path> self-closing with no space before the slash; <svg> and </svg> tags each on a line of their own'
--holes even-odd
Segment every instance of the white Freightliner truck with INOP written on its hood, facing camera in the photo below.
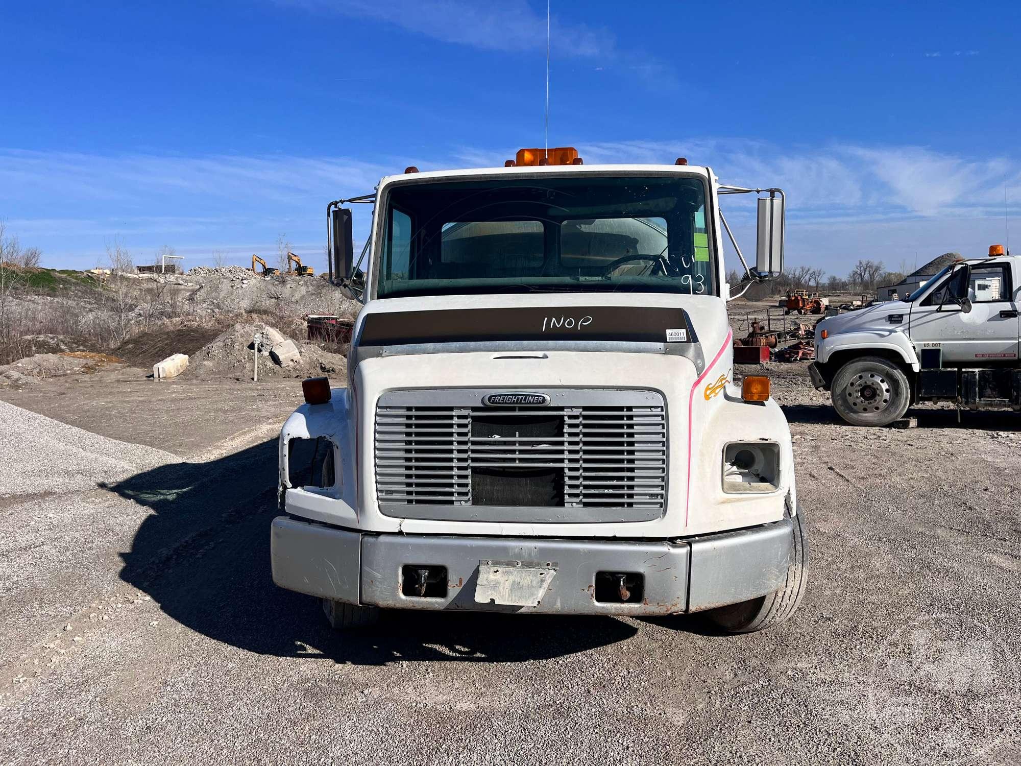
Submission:
<svg viewBox="0 0 1021 766">
<path fill-rule="evenodd" d="M 710 610 L 732 631 L 792 614 L 789 430 L 768 379 L 732 377 L 734 193 L 759 197 L 748 279 L 777 276 L 782 191 L 681 159 L 522 150 L 331 203 L 331 278 L 363 307 L 346 387 L 305 381 L 280 435 L 275 582 L 338 628 L 380 609 Z M 346 202 L 374 204 L 354 262 Z"/>
</svg>

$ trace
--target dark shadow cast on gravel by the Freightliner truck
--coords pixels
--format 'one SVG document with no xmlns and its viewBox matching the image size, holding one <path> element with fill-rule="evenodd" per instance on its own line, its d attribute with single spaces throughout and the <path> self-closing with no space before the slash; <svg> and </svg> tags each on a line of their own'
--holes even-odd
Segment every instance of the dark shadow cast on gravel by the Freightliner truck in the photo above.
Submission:
<svg viewBox="0 0 1021 766">
<path fill-rule="evenodd" d="M 168 464 L 101 485 L 153 512 L 131 550 L 120 555 L 120 578 L 192 630 L 277 657 L 322 655 L 357 665 L 523 662 L 637 633 L 633 624 L 611 617 L 400 611 L 384 614 L 370 630 L 338 635 L 319 600 L 273 583 L 270 522 L 278 511 L 275 488 L 266 483 L 276 467 L 277 441 L 271 439 L 210 463 Z"/>
</svg>

